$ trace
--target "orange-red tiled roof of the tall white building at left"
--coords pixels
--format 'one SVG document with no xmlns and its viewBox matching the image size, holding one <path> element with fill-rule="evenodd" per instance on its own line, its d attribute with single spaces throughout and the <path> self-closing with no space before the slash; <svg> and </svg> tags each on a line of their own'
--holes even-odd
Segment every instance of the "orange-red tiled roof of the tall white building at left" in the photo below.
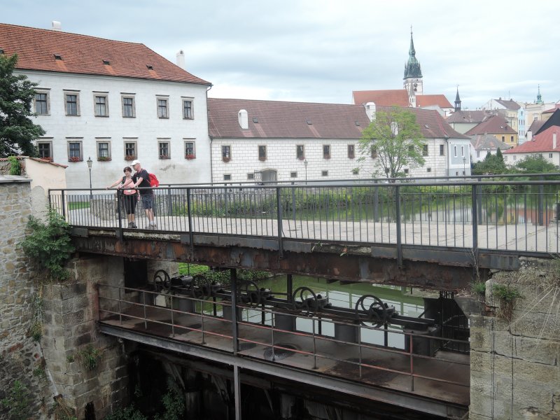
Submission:
<svg viewBox="0 0 560 420">
<path fill-rule="evenodd" d="M 17 53 L 17 68 L 22 70 L 211 84 L 141 43 L 0 24 L 0 49 L 6 55 Z M 104 60 L 109 64 L 104 64 Z"/>
</svg>

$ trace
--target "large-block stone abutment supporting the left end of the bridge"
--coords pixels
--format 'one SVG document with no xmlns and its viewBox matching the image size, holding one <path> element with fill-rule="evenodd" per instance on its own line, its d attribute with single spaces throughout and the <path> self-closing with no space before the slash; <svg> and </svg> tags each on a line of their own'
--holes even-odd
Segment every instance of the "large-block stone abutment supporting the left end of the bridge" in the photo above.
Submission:
<svg viewBox="0 0 560 420">
<path fill-rule="evenodd" d="M 41 340 L 52 382 L 66 404 L 85 418 L 85 407 L 103 419 L 128 395 L 127 359 L 113 337 L 97 332 L 97 283 L 123 285 L 123 259 L 109 256 L 72 260 L 71 280 L 44 288 L 45 330 Z M 87 370 L 80 351 L 102 351 L 99 365 Z"/>
</svg>

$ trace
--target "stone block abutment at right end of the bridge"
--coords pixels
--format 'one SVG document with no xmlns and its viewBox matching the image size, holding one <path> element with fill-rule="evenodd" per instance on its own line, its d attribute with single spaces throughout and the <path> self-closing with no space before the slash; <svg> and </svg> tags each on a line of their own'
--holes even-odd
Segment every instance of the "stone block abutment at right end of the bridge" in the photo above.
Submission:
<svg viewBox="0 0 560 420">
<path fill-rule="evenodd" d="M 524 267 L 486 282 L 487 316 L 470 316 L 470 420 L 560 419 L 560 283 L 554 267 Z M 523 298 L 511 321 L 493 284 Z"/>
</svg>

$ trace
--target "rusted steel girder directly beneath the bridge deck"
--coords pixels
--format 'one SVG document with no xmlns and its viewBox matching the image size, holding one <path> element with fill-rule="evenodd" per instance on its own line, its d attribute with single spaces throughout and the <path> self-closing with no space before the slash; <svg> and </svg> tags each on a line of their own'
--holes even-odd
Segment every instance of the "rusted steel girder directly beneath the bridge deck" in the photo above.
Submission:
<svg viewBox="0 0 560 420">
<path fill-rule="evenodd" d="M 262 269 L 269 272 L 319 276 L 326 279 L 416 286 L 437 290 L 467 288 L 472 280 L 472 267 L 440 265 L 437 262 L 405 260 L 401 268 L 397 260 L 375 256 L 369 246 L 338 244 L 292 244 L 279 252 L 274 246 L 251 246 L 246 238 L 237 243 L 221 244 L 219 238 L 200 239 L 195 246 L 178 235 L 135 235 L 120 241 L 113 232 L 74 236 L 76 250 L 85 253 L 120 255 L 194 262 L 215 267 Z M 289 244 L 288 244 L 289 245 Z M 194 253 L 191 253 L 191 250 Z M 342 252 L 341 252 L 342 251 Z"/>
</svg>

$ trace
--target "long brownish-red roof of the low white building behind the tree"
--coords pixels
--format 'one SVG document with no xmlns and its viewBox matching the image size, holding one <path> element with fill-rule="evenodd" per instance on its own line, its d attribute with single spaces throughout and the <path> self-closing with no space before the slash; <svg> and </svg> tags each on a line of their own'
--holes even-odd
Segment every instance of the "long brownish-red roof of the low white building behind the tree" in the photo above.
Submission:
<svg viewBox="0 0 560 420">
<path fill-rule="evenodd" d="M 237 118 L 241 109 L 248 113 L 246 130 Z M 416 114 L 425 138 L 469 138 L 453 130 L 437 111 L 405 109 Z M 211 137 L 231 139 L 360 139 L 370 124 L 362 105 L 217 98 L 208 99 L 208 121 Z"/>
</svg>

